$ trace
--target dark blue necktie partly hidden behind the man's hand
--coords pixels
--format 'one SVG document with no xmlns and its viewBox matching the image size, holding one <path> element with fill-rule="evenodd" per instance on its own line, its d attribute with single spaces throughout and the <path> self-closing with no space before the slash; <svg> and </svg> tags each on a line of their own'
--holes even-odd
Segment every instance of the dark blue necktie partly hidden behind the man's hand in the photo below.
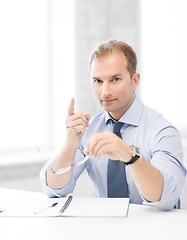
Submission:
<svg viewBox="0 0 187 240">
<path fill-rule="evenodd" d="M 120 129 L 123 124 L 122 122 L 117 122 L 113 125 L 113 133 L 120 138 L 122 138 Z M 129 196 L 125 164 L 120 160 L 108 160 L 107 185 L 108 197 L 117 198 Z"/>
</svg>

